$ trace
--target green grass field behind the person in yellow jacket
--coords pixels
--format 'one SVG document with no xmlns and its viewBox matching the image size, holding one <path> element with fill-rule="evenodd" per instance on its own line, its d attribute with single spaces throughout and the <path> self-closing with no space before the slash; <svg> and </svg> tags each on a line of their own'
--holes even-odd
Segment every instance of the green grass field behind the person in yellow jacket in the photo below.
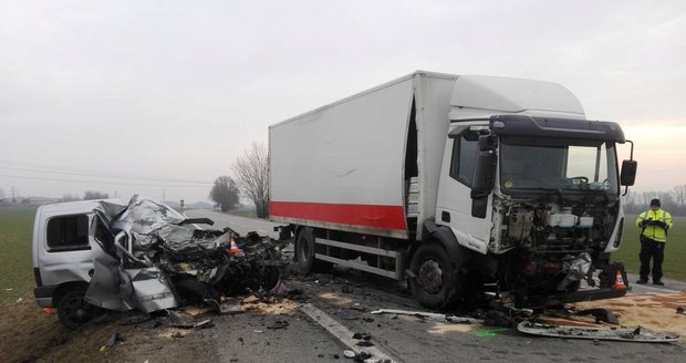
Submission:
<svg viewBox="0 0 686 363">
<path fill-rule="evenodd" d="M 635 215 L 627 215 L 625 218 L 622 247 L 612 256 L 612 260 L 624 261 L 627 271 L 638 273 L 641 268 L 638 234 L 641 230 L 636 228 Z M 673 217 L 673 222 L 674 227 L 669 230 L 665 246 L 663 272 L 667 279 L 686 281 L 686 217 Z"/>
</svg>

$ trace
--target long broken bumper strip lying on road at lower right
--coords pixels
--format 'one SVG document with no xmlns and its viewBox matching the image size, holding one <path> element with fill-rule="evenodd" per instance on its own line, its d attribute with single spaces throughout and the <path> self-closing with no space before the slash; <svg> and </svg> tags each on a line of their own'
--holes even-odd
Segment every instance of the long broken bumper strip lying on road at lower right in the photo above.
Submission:
<svg viewBox="0 0 686 363">
<path fill-rule="evenodd" d="M 524 334 L 541 336 L 623 341 L 637 343 L 669 343 L 679 340 L 679 335 L 677 334 L 657 332 L 643 326 L 588 328 L 571 325 L 550 325 L 537 323 L 531 320 L 526 320 L 519 323 L 519 325 L 517 325 L 517 330 Z"/>
</svg>

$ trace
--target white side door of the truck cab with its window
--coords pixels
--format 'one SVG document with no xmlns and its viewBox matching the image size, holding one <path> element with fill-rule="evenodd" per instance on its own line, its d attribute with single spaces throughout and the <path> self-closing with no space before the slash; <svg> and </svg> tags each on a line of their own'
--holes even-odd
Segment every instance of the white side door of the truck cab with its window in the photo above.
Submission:
<svg viewBox="0 0 686 363">
<path fill-rule="evenodd" d="M 451 132 L 451 138 L 446 143 L 438 184 L 436 225 L 450 227 L 461 246 L 486 253 L 492 228 L 492 196 L 488 197 L 485 218 L 474 217 L 471 187 L 478 136 L 470 135 L 467 127 L 462 129 L 462 133 L 457 129 Z"/>
</svg>

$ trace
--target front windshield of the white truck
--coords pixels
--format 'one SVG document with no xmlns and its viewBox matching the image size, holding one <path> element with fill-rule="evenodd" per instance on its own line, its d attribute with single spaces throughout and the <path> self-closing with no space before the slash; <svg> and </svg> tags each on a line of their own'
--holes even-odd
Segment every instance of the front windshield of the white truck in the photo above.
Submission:
<svg viewBox="0 0 686 363">
<path fill-rule="evenodd" d="M 518 145 L 501 141 L 500 187 L 619 193 L 614 143 Z"/>
</svg>

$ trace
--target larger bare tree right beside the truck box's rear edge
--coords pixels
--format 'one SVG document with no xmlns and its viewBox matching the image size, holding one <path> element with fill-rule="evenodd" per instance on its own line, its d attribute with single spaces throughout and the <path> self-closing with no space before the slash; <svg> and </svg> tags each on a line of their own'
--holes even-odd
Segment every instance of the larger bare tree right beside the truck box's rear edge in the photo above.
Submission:
<svg viewBox="0 0 686 363">
<path fill-rule="evenodd" d="M 269 216 L 269 153 L 262 144 L 252 143 L 233 163 L 238 185 L 257 208 L 258 218 Z"/>
</svg>

